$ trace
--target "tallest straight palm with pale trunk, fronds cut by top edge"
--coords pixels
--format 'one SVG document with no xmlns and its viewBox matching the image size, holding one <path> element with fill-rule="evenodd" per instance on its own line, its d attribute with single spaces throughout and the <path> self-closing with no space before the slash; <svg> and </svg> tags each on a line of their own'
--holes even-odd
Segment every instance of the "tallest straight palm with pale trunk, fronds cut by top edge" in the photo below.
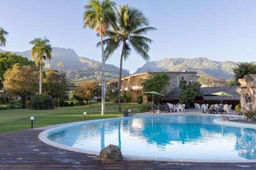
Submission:
<svg viewBox="0 0 256 170">
<path fill-rule="evenodd" d="M 89 5 L 86 5 L 83 13 L 84 28 L 89 27 L 97 32 L 100 37 L 100 42 L 103 41 L 103 37 L 106 35 L 106 31 L 111 25 L 116 22 L 115 16 L 116 3 L 109 0 L 89 0 Z M 101 58 L 102 58 L 102 87 L 101 87 L 101 114 L 104 114 L 105 110 L 105 54 L 104 46 L 101 43 Z"/>
</svg>

